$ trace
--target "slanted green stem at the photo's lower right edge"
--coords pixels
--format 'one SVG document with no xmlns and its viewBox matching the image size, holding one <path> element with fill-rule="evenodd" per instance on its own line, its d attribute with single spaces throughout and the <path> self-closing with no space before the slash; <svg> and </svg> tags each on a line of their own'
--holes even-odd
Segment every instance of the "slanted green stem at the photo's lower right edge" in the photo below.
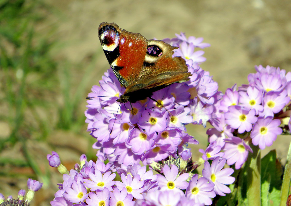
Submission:
<svg viewBox="0 0 291 206">
<path fill-rule="evenodd" d="M 290 179 L 291 179 L 291 142 L 289 145 L 288 155 L 287 155 L 287 161 L 283 176 L 283 182 L 282 182 L 282 188 L 281 188 L 281 200 L 280 200 L 280 206 L 286 205 L 286 201 L 289 195 L 289 187 L 290 187 Z"/>
</svg>

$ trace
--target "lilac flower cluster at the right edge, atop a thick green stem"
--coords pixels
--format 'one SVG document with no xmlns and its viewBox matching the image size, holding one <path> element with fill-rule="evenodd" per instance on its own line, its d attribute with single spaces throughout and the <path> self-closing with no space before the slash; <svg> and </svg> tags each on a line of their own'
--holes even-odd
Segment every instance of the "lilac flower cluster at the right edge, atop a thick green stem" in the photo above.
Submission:
<svg viewBox="0 0 291 206">
<path fill-rule="evenodd" d="M 265 149 L 282 133 L 280 120 L 290 117 L 291 72 L 261 65 L 255 69 L 248 85 L 228 88 L 215 104 L 210 119 L 214 128 L 207 130 L 211 144 L 208 151 L 201 150 L 203 159 L 221 156 L 239 169 L 252 152 L 247 141 Z M 217 155 L 219 148 L 224 155 Z"/>
</svg>

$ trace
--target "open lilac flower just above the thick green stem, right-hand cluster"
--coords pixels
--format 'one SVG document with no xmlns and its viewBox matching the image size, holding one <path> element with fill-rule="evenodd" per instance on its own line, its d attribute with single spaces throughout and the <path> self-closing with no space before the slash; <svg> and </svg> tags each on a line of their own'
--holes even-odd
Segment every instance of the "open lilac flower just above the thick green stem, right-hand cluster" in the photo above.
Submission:
<svg viewBox="0 0 291 206">
<path fill-rule="evenodd" d="M 252 143 L 259 145 L 261 150 L 266 146 L 271 146 L 276 140 L 277 135 L 282 133 L 282 129 L 278 127 L 281 121 L 268 116 L 266 118 L 258 117 L 258 121 L 253 125 L 251 132 Z"/>
</svg>

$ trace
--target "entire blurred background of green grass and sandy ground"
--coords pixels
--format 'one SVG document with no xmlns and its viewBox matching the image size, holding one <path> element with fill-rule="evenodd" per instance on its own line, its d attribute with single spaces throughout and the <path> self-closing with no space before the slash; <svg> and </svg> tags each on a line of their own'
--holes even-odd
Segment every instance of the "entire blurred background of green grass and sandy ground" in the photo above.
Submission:
<svg viewBox="0 0 291 206">
<path fill-rule="evenodd" d="M 201 67 L 224 92 L 246 84 L 255 65 L 291 71 L 290 10 L 289 0 L 0 0 L 0 193 L 16 199 L 31 177 L 44 183 L 31 205 L 49 205 L 62 175 L 47 154 L 58 152 L 68 169 L 83 153 L 96 160 L 84 111 L 109 68 L 97 36 L 101 22 L 147 39 L 181 31 L 203 37 L 211 47 Z M 195 160 L 206 129 L 187 129 L 200 141 Z M 271 147 L 283 164 L 289 142 L 278 137 Z"/>
</svg>

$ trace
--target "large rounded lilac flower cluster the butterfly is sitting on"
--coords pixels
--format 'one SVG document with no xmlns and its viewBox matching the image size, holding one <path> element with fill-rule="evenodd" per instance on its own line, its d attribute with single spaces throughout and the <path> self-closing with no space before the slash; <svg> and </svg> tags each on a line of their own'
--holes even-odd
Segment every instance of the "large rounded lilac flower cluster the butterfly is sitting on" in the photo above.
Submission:
<svg viewBox="0 0 291 206">
<path fill-rule="evenodd" d="M 88 131 L 97 139 L 93 148 L 100 149 L 97 156 L 108 159 L 116 166 L 133 163 L 147 164 L 149 159 L 160 161 L 170 155 L 188 150 L 187 143 L 197 144 L 186 133 L 185 125 L 201 124 L 204 127 L 211 118 L 214 104 L 220 98 L 217 82 L 198 65 L 205 61 L 203 51 L 209 44 L 203 38 L 185 37 L 165 39 L 179 47 L 173 56 L 186 60 L 192 76 L 185 83 L 172 84 L 152 94 L 157 102 L 146 98 L 143 101 L 120 104 L 116 102 L 125 91 L 112 70 L 108 70 L 93 86 L 85 111 Z M 108 97 L 111 96 L 111 97 Z M 133 109 L 133 111 L 132 111 Z"/>
</svg>

